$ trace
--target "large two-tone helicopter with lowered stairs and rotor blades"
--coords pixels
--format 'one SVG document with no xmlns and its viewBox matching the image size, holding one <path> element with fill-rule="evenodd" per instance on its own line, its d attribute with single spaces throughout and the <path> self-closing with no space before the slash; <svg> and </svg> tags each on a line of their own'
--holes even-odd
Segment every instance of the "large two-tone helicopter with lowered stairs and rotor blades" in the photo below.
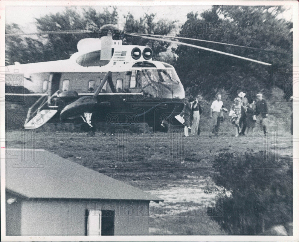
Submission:
<svg viewBox="0 0 299 242">
<path fill-rule="evenodd" d="M 152 60 L 152 49 L 147 46 L 122 45 L 121 39 L 113 39 L 112 36 L 115 34 L 112 33 L 116 27 L 112 24 L 106 24 L 101 28 L 101 30 L 105 29 L 108 29 L 108 32 L 101 38 L 81 39 L 77 43 L 78 52 L 71 55 L 69 59 L 22 65 L 16 62 L 15 65 L 7 66 L 10 70 L 18 71 L 10 73 L 10 76 L 19 73 L 23 75 L 19 78 L 19 82 L 15 81 L 16 78 L 6 77 L 5 83 L 9 85 L 7 90 L 10 91 L 5 93 L 5 98 L 16 102 L 20 99 L 25 101 L 28 113 L 23 125 L 24 129 L 36 129 L 47 122 L 79 123 L 82 131 L 91 133 L 95 132 L 98 122 L 114 125 L 146 122 L 154 132 L 167 132 L 170 124 L 183 127 L 182 111 L 185 106 L 185 92 L 174 67 L 165 62 Z M 47 31 L 41 34 L 48 32 L 59 34 L 62 31 Z M 90 33 L 90 31 L 78 32 Z M 120 33 L 118 30 L 116 32 Z M 73 34 L 74 31 L 69 33 Z M 6 34 L 6 36 L 11 35 L 18 35 L 18 33 Z M 186 45 L 271 65 L 218 50 L 165 39 L 188 38 L 120 34 L 120 36 L 124 35 Z M 19 88 L 20 86 L 23 89 Z M 24 93 L 24 90 L 27 93 Z"/>
</svg>

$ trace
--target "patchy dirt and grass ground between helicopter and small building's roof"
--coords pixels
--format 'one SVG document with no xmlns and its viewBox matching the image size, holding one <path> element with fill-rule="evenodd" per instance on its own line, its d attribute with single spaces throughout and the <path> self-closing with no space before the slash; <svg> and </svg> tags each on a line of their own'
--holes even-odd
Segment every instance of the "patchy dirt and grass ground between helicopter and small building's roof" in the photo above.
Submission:
<svg viewBox="0 0 299 242">
<path fill-rule="evenodd" d="M 6 132 L 7 148 L 36 148 L 94 169 L 164 199 L 150 203 L 151 235 L 224 235 L 206 215 L 216 194 L 210 175 L 212 161 L 220 152 L 277 152 L 280 159 L 292 157 L 292 136 L 278 130 L 265 139 L 260 130 L 248 136 L 233 136 L 233 129 L 218 137 L 183 137 L 182 131 L 167 134 L 97 132 L 95 136 L 69 131 L 17 130 Z"/>
</svg>

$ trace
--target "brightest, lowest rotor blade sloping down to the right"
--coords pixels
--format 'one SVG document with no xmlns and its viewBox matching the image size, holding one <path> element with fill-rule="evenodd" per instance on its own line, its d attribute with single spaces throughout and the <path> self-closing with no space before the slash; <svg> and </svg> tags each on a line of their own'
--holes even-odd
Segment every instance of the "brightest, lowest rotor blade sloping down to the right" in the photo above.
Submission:
<svg viewBox="0 0 299 242">
<path fill-rule="evenodd" d="M 236 57 L 236 58 L 243 59 L 243 60 L 248 60 L 248 61 L 256 62 L 256 63 L 263 64 L 263 65 L 271 65 L 271 64 L 266 63 L 266 62 L 262 62 L 262 61 L 258 61 L 258 60 L 254 60 L 254 59 L 250 59 L 250 58 L 246 58 L 246 57 L 243 57 L 243 56 L 237 56 L 237 55 L 226 53 L 226 52 L 222 52 L 222 51 L 219 51 L 219 50 L 213 50 L 213 49 L 210 49 L 210 48 L 205 48 L 205 47 L 198 46 L 198 45 L 191 45 L 191 44 L 187 44 L 187 43 L 183 43 L 183 42 L 179 42 L 179 41 L 174 41 L 174 40 L 169 40 L 169 39 L 160 39 L 160 38 L 154 38 L 154 37 L 148 37 L 148 36 L 141 36 L 141 35 L 136 35 L 136 34 L 132 34 L 132 33 L 126 33 L 126 35 L 129 35 L 129 36 L 138 36 L 138 37 L 141 37 L 141 38 L 144 38 L 144 39 L 152 39 L 152 40 L 164 41 L 164 42 L 174 43 L 174 44 L 177 44 L 177 45 L 185 45 L 185 46 L 189 46 L 189 47 L 193 47 L 193 48 L 197 48 L 197 49 L 208 50 L 208 51 L 212 51 L 212 52 L 215 52 L 215 53 L 219 53 L 219 54 L 223 54 L 223 55 L 227 55 L 227 56 L 232 56 L 232 57 Z"/>
</svg>

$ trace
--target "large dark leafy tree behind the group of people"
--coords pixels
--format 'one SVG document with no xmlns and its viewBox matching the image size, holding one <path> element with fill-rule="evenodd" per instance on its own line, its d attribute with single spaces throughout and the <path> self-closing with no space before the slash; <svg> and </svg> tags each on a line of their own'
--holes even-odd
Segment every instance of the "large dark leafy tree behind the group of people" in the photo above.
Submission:
<svg viewBox="0 0 299 242">
<path fill-rule="evenodd" d="M 231 98 L 239 91 L 245 91 L 247 96 L 261 91 L 269 94 L 267 90 L 271 90 L 277 68 L 292 65 L 292 24 L 276 18 L 282 11 L 279 6 L 213 6 L 203 12 L 201 18 L 198 13 L 188 13 L 187 21 L 181 27 L 181 37 L 281 53 L 189 41 L 194 45 L 270 62 L 272 66 L 181 45 L 175 50 L 178 55 L 175 68 L 185 88 L 189 88 L 192 94 L 201 91 L 206 97 L 213 97 L 222 88 L 230 93 Z"/>
</svg>

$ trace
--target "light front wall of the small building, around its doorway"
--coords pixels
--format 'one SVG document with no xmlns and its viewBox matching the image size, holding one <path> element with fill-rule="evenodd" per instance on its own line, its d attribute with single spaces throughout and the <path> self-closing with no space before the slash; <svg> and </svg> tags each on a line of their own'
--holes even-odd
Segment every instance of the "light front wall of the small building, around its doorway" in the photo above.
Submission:
<svg viewBox="0 0 299 242">
<path fill-rule="evenodd" d="M 148 235 L 149 201 L 24 200 L 21 235 L 85 235 L 86 209 L 114 210 L 114 235 Z"/>
</svg>

